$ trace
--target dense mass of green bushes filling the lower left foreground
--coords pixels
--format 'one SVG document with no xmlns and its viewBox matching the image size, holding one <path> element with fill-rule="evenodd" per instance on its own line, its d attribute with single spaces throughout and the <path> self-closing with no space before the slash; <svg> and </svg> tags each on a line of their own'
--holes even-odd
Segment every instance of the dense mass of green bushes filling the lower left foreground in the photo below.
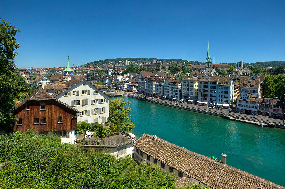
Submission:
<svg viewBox="0 0 285 189">
<path fill-rule="evenodd" d="M 0 188 L 168 188 L 174 176 L 158 165 L 137 165 L 103 151 L 62 144 L 59 136 L 36 136 L 30 130 L 0 135 Z"/>
</svg>

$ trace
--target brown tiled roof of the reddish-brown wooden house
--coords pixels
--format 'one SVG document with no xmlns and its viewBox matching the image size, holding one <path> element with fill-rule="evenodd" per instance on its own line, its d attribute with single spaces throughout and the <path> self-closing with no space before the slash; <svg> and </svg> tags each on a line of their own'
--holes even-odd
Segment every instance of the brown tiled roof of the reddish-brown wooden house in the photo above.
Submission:
<svg viewBox="0 0 285 189">
<path fill-rule="evenodd" d="M 55 100 L 55 101 L 58 101 L 59 103 L 61 103 L 62 105 L 80 113 L 80 111 L 78 111 L 77 109 L 71 107 L 70 105 L 68 105 L 66 103 L 63 103 L 62 101 L 59 101 L 58 99 L 56 99 L 55 97 L 50 95 L 48 92 L 43 90 L 41 87 L 38 88 L 33 94 L 28 96 L 28 98 L 26 98 L 25 101 L 23 101 L 19 105 L 17 105 L 15 107 L 15 109 L 18 109 L 19 107 L 21 107 L 22 105 L 24 105 L 28 101 L 41 101 L 41 100 L 42 101 L 44 101 L 44 100 Z"/>
</svg>

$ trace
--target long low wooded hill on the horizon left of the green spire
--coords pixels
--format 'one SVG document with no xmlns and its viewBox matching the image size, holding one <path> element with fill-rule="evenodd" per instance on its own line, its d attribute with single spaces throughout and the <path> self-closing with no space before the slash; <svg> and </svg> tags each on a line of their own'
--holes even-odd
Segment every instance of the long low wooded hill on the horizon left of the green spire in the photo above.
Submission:
<svg viewBox="0 0 285 189">
<path fill-rule="evenodd" d="M 157 59 L 157 58 L 117 58 L 117 59 L 106 59 L 106 60 L 97 60 L 97 61 L 93 61 L 93 62 L 89 62 L 86 63 L 82 66 L 90 66 L 93 63 L 98 63 L 98 64 L 103 64 L 103 63 L 108 63 L 109 61 L 111 62 L 124 62 L 124 61 L 144 61 L 144 63 L 146 62 L 151 62 L 152 60 L 157 60 L 157 61 L 166 61 L 167 63 L 170 62 L 178 62 L 180 64 L 205 64 L 205 63 L 201 63 L 201 62 L 197 62 L 197 61 L 189 61 L 189 60 L 182 60 L 182 59 Z"/>
</svg>

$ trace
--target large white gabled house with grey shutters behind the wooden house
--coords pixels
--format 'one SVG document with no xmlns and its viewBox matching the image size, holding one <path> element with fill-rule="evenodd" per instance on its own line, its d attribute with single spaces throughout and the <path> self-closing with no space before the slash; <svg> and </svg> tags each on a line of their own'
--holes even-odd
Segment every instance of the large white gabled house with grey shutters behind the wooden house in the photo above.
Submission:
<svg viewBox="0 0 285 189">
<path fill-rule="evenodd" d="M 106 123 L 109 115 L 109 96 L 86 79 L 74 78 L 64 85 L 46 85 L 44 89 L 56 99 L 81 112 L 77 123 Z"/>
</svg>

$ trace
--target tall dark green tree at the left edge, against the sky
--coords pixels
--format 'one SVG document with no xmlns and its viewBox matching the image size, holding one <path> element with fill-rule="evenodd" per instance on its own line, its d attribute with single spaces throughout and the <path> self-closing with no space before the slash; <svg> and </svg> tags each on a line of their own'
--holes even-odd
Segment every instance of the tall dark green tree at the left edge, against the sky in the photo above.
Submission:
<svg viewBox="0 0 285 189">
<path fill-rule="evenodd" d="M 27 90 L 27 83 L 23 76 L 17 74 L 14 49 L 19 47 L 15 36 L 20 30 L 10 22 L 2 20 L 0 24 L 0 130 L 12 128 L 12 122 L 17 119 L 13 115 L 15 108 L 15 95 Z"/>
</svg>

